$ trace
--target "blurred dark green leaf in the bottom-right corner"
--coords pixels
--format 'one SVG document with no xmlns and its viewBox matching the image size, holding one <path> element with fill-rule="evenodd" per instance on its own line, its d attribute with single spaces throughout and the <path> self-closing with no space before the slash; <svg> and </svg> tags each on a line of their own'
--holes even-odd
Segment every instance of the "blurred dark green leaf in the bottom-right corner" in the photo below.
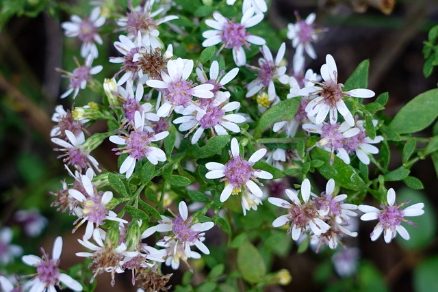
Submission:
<svg viewBox="0 0 438 292">
<path fill-rule="evenodd" d="M 424 258 L 413 272 L 413 286 L 417 292 L 430 292 L 437 287 L 438 256 Z"/>
</svg>

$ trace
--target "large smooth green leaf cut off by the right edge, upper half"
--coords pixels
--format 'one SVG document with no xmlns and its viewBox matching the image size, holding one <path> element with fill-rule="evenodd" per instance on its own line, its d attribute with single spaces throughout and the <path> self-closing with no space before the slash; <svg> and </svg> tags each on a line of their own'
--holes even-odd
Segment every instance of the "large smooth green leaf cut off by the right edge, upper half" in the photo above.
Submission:
<svg viewBox="0 0 438 292">
<path fill-rule="evenodd" d="M 389 124 L 396 133 L 415 133 L 432 124 L 438 116 L 438 88 L 415 96 L 398 111 Z"/>
</svg>

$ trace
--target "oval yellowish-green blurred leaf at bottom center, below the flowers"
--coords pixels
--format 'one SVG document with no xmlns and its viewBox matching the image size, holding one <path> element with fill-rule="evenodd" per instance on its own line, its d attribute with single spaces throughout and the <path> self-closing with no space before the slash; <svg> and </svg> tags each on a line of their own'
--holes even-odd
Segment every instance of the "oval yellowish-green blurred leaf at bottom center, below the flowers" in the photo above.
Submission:
<svg viewBox="0 0 438 292">
<path fill-rule="evenodd" d="M 260 282 L 266 275 L 266 266 L 259 250 L 249 241 L 244 242 L 237 250 L 237 269 L 250 283 Z"/>
</svg>

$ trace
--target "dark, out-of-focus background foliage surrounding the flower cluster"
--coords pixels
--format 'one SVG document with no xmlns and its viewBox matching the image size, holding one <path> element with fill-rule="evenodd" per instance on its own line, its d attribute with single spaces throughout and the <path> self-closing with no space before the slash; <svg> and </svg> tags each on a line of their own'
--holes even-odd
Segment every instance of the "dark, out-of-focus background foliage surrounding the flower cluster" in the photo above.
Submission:
<svg viewBox="0 0 438 292">
<path fill-rule="evenodd" d="M 120 1 L 119 4 L 126 6 L 126 2 Z M 295 10 L 302 18 L 316 12 L 319 25 L 328 28 L 315 45 L 319 58 L 307 64 L 307 68 L 318 71 L 324 56 L 330 53 L 337 59 L 341 75 L 339 80 L 346 80 L 357 64 L 363 59 L 370 59 L 369 88 L 377 94 L 389 92 L 385 115 L 394 117 L 411 98 L 437 87 L 438 75 L 433 70 L 438 64 L 437 37 L 428 35 L 428 31 L 438 24 L 436 1 L 272 0 L 268 21 L 274 29 L 284 30 L 287 23 L 296 21 Z M 68 98 L 62 101 L 58 98 L 67 83 L 54 68 L 73 70 L 73 56 L 79 53 L 79 44 L 64 38 L 60 23 L 68 21 L 70 14 L 83 15 L 89 11 L 88 1 L 0 1 L 0 223 L 12 227 L 14 243 L 22 245 L 25 254 L 38 252 L 40 245 L 50 247 L 53 237 L 63 235 L 64 243 L 72 245 L 64 250 L 63 257 L 66 258 L 62 264 L 65 267 L 80 261 L 74 255 L 79 250 L 76 237 L 68 235 L 73 217 L 50 207 L 53 196 L 49 192 L 60 188 L 60 181 L 66 176 L 62 162 L 52 151 L 49 131 L 53 123 L 50 118 L 55 105 L 62 103 L 65 108 L 71 107 Z M 112 46 L 115 39 L 109 36 L 110 32 L 107 31 L 107 36 L 104 36 L 99 59 L 94 61 L 94 64 L 106 66 L 104 73 L 100 73 L 105 77 L 116 72 L 116 67 L 106 65 L 108 56 L 116 55 Z M 272 44 L 272 47 L 278 45 Z M 426 64 L 424 57 L 427 58 Z M 287 58 L 292 60 L 292 55 Z M 83 105 L 93 98 L 97 96 L 87 89 L 75 103 Z M 99 127 L 105 125 L 94 124 L 91 131 L 98 131 Z M 424 133 L 417 133 L 426 137 L 437 134 L 437 124 Z M 95 157 L 104 168 L 116 170 L 110 148 L 104 145 Z M 392 168 L 390 166 L 389 169 L 402 164 L 401 155 L 396 151 L 393 153 L 390 161 Z M 340 278 L 328 256 L 331 251 L 320 254 L 309 250 L 297 252 L 292 240 L 283 233 L 257 241 L 260 242 L 257 249 L 263 261 L 270 261 L 269 265 L 274 269 L 285 268 L 291 272 L 292 283 L 283 291 L 351 291 L 355 289 L 353 287 L 373 292 L 437 290 L 437 172 L 430 160 L 424 160 L 412 168 L 411 175 L 420 178 L 424 189 L 413 190 L 401 184 L 391 186 L 398 191 L 398 201 L 409 198 L 412 203 L 426 204 L 425 214 L 415 218 L 418 227 L 407 226 L 411 240 L 397 240 L 389 245 L 383 239 L 372 242 L 368 235 L 374 222 L 361 224 L 359 238 L 351 239 L 354 241 L 351 245 L 361 249 L 355 276 Z M 324 179 L 321 181 L 322 188 L 325 183 Z M 372 200 L 365 203 L 374 204 Z M 30 208 L 39 209 L 49 218 L 49 225 L 38 238 L 27 237 L 14 221 L 16 210 Z M 242 219 L 246 222 L 241 223 L 261 224 L 260 217 L 263 217 L 260 213 L 248 213 Z M 251 237 L 250 233 L 242 237 L 237 237 L 240 242 L 236 238 L 236 242 L 232 243 L 235 248 L 250 244 L 246 239 Z M 274 250 L 274 258 L 263 258 L 266 250 Z M 205 263 L 200 265 L 214 267 L 224 263 L 224 258 L 214 258 L 213 246 L 211 251 L 211 255 L 205 257 Z M 23 269 L 18 260 L 8 267 L 9 272 L 25 272 Z M 220 268 L 217 269 L 205 277 L 220 276 Z M 192 274 L 188 272 L 181 277 L 182 283 L 188 282 Z M 201 283 L 203 279 L 195 279 L 194 282 Z M 125 280 L 118 279 L 114 291 L 132 291 L 131 286 L 124 283 L 129 283 L 129 276 Z M 175 282 L 174 287 L 178 283 Z M 229 291 L 226 283 L 220 287 L 222 291 Z M 105 289 L 101 287 L 98 291 Z M 185 290 L 177 286 L 176 291 Z M 201 285 L 197 291 L 209 291 L 209 287 Z M 267 291 L 281 290 L 268 287 Z"/>
</svg>

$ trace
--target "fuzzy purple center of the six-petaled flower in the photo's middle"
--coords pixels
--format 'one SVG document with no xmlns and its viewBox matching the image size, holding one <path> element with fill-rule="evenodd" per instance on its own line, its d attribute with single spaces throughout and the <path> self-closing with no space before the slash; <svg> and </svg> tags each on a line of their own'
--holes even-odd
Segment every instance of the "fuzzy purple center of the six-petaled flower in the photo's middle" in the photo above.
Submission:
<svg viewBox="0 0 438 292">
<path fill-rule="evenodd" d="M 255 172 L 253 165 L 254 163 L 242 159 L 240 155 L 231 157 L 224 165 L 225 177 L 223 179 L 233 185 L 234 189 L 240 189 L 242 185 L 245 185 L 250 180 L 250 177 Z"/>
</svg>

